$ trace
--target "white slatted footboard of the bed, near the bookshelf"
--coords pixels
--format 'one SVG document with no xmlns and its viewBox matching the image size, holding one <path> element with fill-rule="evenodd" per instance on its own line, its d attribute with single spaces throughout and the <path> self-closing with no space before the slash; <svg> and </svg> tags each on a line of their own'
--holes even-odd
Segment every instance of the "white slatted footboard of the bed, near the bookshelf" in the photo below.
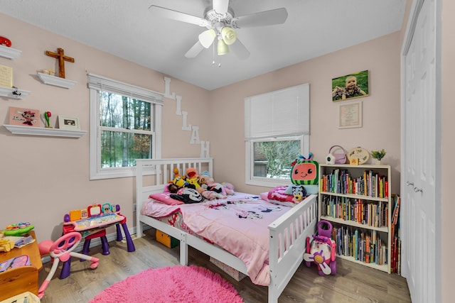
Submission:
<svg viewBox="0 0 455 303">
<path fill-rule="evenodd" d="M 269 303 L 277 303 L 304 260 L 306 237 L 316 232 L 317 196 L 311 194 L 269 225 Z"/>
</svg>

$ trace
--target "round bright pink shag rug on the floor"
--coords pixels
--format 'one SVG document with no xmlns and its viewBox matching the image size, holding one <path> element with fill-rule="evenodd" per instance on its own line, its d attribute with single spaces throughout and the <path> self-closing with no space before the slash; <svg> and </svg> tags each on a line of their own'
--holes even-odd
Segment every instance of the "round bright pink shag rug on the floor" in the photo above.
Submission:
<svg viewBox="0 0 455 303">
<path fill-rule="evenodd" d="M 176 265 L 127 277 L 89 303 L 101 302 L 242 303 L 243 299 L 220 275 L 196 265 Z"/>
</svg>

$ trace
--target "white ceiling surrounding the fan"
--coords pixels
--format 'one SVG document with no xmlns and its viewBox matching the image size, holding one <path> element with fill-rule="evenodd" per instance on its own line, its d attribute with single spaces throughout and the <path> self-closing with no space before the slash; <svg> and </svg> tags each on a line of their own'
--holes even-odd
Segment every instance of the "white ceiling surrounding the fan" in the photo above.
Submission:
<svg viewBox="0 0 455 303">
<path fill-rule="evenodd" d="M 154 17 L 152 4 L 203 18 L 212 1 L 0 0 L 0 12 L 212 90 L 400 31 L 406 0 L 230 0 L 235 16 L 284 7 L 288 18 L 237 29 L 250 57 L 215 55 L 215 65 L 211 47 L 184 56 L 206 28 Z"/>
</svg>

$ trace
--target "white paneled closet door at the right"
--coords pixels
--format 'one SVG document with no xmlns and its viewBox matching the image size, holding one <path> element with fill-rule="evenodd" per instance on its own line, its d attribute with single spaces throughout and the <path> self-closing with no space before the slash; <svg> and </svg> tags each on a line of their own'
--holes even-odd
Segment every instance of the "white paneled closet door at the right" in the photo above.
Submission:
<svg viewBox="0 0 455 303">
<path fill-rule="evenodd" d="M 402 273 L 414 303 L 436 302 L 435 30 L 435 2 L 424 0 L 405 55 L 402 106 Z"/>
</svg>

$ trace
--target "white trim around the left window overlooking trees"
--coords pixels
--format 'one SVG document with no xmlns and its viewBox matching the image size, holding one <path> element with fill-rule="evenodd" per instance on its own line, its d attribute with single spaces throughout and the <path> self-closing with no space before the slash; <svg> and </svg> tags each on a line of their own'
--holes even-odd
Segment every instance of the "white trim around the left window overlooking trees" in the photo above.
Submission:
<svg viewBox="0 0 455 303">
<path fill-rule="evenodd" d="M 154 136 L 152 136 L 152 155 L 154 159 L 161 158 L 161 112 L 164 95 L 153 92 L 148 89 L 141 89 L 133 85 L 124 84 L 116 80 L 97 76 L 93 74 L 88 75 L 90 88 L 90 180 L 101 180 L 119 177 L 133 177 L 136 174 L 136 167 L 101 167 L 101 127 L 100 127 L 100 97 L 99 91 L 102 86 L 99 85 L 100 81 L 111 85 L 117 90 L 119 94 L 124 89 L 132 89 L 132 94 L 135 97 L 141 98 L 142 101 L 151 101 L 154 103 Z M 115 89 L 117 87 L 117 89 Z M 124 95 L 129 95 L 125 94 Z M 154 173 L 154 172 L 149 172 Z"/>
</svg>

